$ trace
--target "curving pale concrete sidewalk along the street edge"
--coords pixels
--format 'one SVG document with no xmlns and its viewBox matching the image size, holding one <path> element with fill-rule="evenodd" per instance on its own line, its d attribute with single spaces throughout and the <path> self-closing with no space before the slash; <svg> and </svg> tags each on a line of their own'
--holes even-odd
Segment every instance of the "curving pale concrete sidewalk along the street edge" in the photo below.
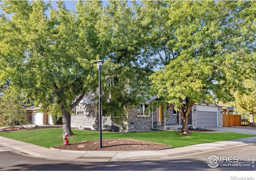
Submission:
<svg viewBox="0 0 256 180">
<path fill-rule="evenodd" d="M 70 151 L 44 148 L 26 142 L 9 139 L 0 136 L 0 152 L 17 150 L 36 158 L 64 161 L 82 162 L 108 162 L 108 161 L 135 161 L 135 160 L 155 160 L 165 159 L 175 156 L 187 155 L 196 152 L 219 150 L 230 146 L 243 145 L 246 143 L 256 143 L 256 136 L 219 142 L 196 144 L 180 148 L 170 148 L 164 150 L 143 150 L 143 151 Z M 6 146 L 6 147 L 1 147 Z"/>
</svg>

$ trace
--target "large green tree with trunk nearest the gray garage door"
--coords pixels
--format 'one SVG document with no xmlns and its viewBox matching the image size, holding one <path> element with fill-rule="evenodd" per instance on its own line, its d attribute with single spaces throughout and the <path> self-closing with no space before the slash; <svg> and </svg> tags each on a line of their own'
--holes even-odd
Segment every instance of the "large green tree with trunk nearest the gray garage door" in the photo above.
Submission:
<svg viewBox="0 0 256 180">
<path fill-rule="evenodd" d="M 156 9 L 152 20 L 151 13 Z M 255 3 L 251 1 L 147 2 L 151 49 L 164 67 L 150 76 L 158 97 L 178 107 L 182 132 L 195 103 L 230 101 L 242 87 L 246 55 L 255 49 Z M 166 15 L 166 12 L 168 12 Z M 251 16 L 252 15 L 252 16 Z M 147 16 L 146 16 L 147 17 Z M 158 45 L 155 45 L 157 42 Z M 250 62 L 254 63 L 254 62 Z"/>
</svg>

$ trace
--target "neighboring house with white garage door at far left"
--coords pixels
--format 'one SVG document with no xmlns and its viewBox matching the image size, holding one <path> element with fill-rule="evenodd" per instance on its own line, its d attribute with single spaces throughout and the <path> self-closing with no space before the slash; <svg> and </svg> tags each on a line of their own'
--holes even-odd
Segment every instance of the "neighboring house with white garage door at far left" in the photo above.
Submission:
<svg viewBox="0 0 256 180">
<path fill-rule="evenodd" d="M 49 111 L 44 111 L 43 113 L 39 111 L 40 107 L 28 107 L 26 109 L 28 118 L 33 125 L 44 125 L 52 123 L 52 116 L 49 114 Z"/>
</svg>

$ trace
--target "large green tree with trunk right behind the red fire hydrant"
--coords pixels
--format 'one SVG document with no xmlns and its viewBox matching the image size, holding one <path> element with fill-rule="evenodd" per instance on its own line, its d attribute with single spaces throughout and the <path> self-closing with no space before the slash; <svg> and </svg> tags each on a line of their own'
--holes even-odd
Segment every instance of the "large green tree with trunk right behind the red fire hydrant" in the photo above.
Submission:
<svg viewBox="0 0 256 180">
<path fill-rule="evenodd" d="M 72 135 L 70 111 L 97 84 L 94 61 L 104 48 L 95 29 L 102 8 L 100 1 L 79 1 L 77 12 L 63 1 L 56 4 L 2 2 L 3 12 L 12 16 L 0 17 L 1 78 L 10 78 L 42 110 L 58 107 L 63 133 Z"/>
</svg>

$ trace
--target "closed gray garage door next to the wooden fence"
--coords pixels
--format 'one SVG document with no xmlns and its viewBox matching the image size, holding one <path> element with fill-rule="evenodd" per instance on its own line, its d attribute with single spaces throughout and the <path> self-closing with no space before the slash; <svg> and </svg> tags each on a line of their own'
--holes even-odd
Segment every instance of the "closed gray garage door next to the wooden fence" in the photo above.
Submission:
<svg viewBox="0 0 256 180">
<path fill-rule="evenodd" d="M 197 111 L 196 127 L 217 127 L 217 112 Z"/>
</svg>

